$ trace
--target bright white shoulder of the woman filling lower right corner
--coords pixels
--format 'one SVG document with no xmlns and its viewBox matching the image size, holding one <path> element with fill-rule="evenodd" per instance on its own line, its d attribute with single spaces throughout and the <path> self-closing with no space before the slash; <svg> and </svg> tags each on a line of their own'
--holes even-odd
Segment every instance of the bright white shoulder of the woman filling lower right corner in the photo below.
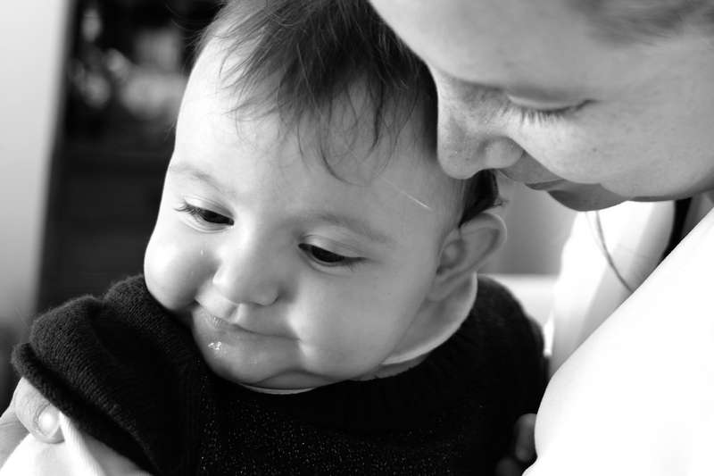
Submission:
<svg viewBox="0 0 714 476">
<path fill-rule="evenodd" d="M 714 211 L 553 376 L 527 476 L 714 474 Z"/>
</svg>

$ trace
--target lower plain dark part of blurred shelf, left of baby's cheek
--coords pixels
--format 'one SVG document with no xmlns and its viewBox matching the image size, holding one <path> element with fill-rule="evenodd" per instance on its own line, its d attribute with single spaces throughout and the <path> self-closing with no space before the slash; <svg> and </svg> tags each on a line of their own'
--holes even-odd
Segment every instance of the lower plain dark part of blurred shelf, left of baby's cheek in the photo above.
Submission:
<svg viewBox="0 0 714 476">
<path fill-rule="evenodd" d="M 71 145 L 60 151 L 46 221 L 38 309 L 99 294 L 142 271 L 168 152 Z"/>
</svg>

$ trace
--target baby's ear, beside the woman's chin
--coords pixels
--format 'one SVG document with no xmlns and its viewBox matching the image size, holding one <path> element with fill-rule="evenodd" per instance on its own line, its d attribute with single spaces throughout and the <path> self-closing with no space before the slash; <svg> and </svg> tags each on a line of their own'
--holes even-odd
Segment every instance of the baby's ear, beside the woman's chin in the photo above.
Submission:
<svg viewBox="0 0 714 476">
<path fill-rule="evenodd" d="M 438 301 L 486 263 L 506 240 L 506 225 L 493 213 L 480 213 L 444 239 L 428 298 Z"/>
</svg>

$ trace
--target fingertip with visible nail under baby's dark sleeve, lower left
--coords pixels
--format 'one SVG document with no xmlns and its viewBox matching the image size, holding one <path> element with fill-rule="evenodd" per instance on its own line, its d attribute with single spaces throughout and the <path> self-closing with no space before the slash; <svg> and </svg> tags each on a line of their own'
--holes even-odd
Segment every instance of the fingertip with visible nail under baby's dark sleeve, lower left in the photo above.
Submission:
<svg viewBox="0 0 714 476">
<path fill-rule="evenodd" d="M 64 441 L 59 410 L 51 405 L 37 388 L 32 387 L 28 380 L 20 380 L 12 399 L 17 417 L 35 438 L 45 443 Z"/>
</svg>

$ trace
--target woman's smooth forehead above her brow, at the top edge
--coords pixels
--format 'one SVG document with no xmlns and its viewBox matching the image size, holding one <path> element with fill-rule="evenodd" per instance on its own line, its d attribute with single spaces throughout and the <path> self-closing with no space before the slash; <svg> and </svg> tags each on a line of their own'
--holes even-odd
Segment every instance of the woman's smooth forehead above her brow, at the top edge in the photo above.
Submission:
<svg viewBox="0 0 714 476">
<path fill-rule="evenodd" d="M 461 79 L 493 82 L 525 67 L 567 71 L 603 47 L 585 14 L 567 0 L 373 3 L 427 63 Z"/>
</svg>

